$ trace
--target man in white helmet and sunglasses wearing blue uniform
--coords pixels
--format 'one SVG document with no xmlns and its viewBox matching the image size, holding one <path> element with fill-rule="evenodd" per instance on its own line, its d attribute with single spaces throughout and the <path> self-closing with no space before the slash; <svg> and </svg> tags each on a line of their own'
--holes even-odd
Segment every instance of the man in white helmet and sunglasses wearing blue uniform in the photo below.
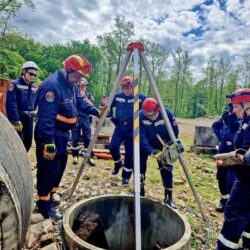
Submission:
<svg viewBox="0 0 250 250">
<path fill-rule="evenodd" d="M 8 119 L 19 134 L 27 152 L 33 139 L 33 118 L 37 92 L 34 79 L 37 70 L 38 67 L 34 62 L 25 62 L 21 77 L 9 83 L 6 97 Z"/>
</svg>

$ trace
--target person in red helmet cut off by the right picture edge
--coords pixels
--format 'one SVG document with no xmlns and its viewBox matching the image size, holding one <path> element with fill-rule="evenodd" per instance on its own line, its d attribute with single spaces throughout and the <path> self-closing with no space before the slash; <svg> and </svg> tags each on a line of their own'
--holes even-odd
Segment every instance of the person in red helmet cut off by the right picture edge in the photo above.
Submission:
<svg viewBox="0 0 250 250">
<path fill-rule="evenodd" d="M 243 119 L 234 140 L 235 148 L 241 150 L 232 156 L 237 160 L 236 178 L 225 206 L 217 250 L 250 249 L 250 89 L 236 90 L 228 98 L 233 112 Z M 242 248 L 238 245 L 241 237 Z"/>
</svg>

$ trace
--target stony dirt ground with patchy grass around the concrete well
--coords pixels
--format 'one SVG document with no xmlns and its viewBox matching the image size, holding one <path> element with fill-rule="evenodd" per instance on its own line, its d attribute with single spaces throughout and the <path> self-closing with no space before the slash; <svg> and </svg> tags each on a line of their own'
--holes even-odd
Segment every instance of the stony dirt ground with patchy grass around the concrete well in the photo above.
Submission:
<svg viewBox="0 0 250 250">
<path fill-rule="evenodd" d="M 193 142 L 196 125 L 211 126 L 214 119 L 177 119 L 180 127 L 180 139 L 185 146 L 183 154 L 187 169 L 202 202 L 204 214 L 209 218 L 209 225 L 202 220 L 201 213 L 195 202 L 194 196 L 188 185 L 188 181 L 179 163 L 174 167 L 174 200 L 178 211 L 185 215 L 191 224 L 192 249 L 215 249 L 216 239 L 223 222 L 223 215 L 215 212 L 215 206 L 219 200 L 216 181 L 216 169 L 212 158 L 208 155 L 196 155 L 189 152 L 189 146 Z M 35 148 L 29 153 L 34 182 L 36 182 Z M 77 201 L 105 194 L 133 194 L 133 181 L 128 186 L 123 186 L 120 174 L 111 174 L 113 162 L 111 160 L 96 159 L 96 167 L 86 166 L 80 181 L 70 200 L 67 194 L 75 180 L 80 164 L 72 164 L 72 156 L 69 156 L 67 169 L 65 171 L 59 194 L 62 204 L 60 210 L 65 213 L 67 208 Z M 155 160 L 149 160 L 146 177 L 146 197 L 163 201 L 163 187 Z M 58 225 L 55 226 L 55 234 L 58 242 L 61 241 L 58 233 Z M 209 242 L 207 242 L 209 240 Z M 39 244 L 34 249 L 39 249 Z"/>
</svg>

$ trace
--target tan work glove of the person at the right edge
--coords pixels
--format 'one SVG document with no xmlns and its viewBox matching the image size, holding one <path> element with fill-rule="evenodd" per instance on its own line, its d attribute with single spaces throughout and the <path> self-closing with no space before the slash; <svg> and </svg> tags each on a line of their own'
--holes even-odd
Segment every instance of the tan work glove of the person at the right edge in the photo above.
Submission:
<svg viewBox="0 0 250 250">
<path fill-rule="evenodd" d="M 237 154 L 243 155 L 242 149 L 238 149 L 229 153 L 216 154 L 214 159 L 216 160 L 217 167 L 244 165 L 244 162 L 237 157 Z"/>
</svg>

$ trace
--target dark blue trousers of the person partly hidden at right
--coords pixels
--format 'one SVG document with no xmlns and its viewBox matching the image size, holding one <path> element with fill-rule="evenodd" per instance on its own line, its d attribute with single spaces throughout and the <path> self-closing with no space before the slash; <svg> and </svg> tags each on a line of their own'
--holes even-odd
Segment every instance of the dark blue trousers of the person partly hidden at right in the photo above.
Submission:
<svg viewBox="0 0 250 250">
<path fill-rule="evenodd" d="M 222 198 L 228 199 L 235 180 L 234 167 L 219 167 L 217 169 L 217 180 Z"/>
</svg>

